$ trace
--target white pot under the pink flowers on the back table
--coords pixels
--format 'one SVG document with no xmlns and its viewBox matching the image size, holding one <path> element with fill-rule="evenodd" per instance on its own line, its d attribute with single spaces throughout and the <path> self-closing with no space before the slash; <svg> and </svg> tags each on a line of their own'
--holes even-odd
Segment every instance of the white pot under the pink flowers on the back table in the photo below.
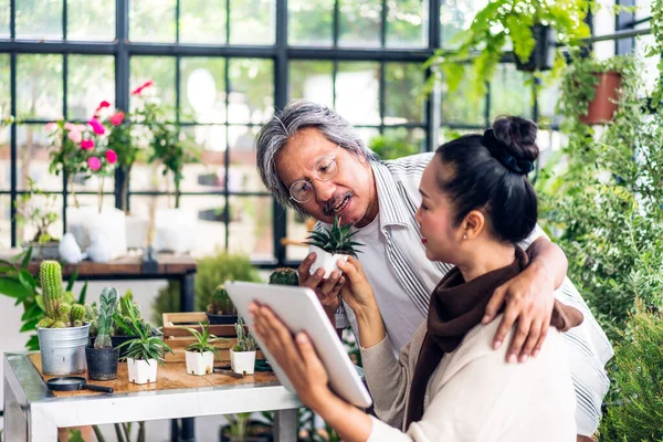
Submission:
<svg viewBox="0 0 663 442">
<path fill-rule="evenodd" d="M 93 261 L 110 261 L 127 254 L 125 213 L 104 207 L 66 208 L 67 229 Z"/>
</svg>

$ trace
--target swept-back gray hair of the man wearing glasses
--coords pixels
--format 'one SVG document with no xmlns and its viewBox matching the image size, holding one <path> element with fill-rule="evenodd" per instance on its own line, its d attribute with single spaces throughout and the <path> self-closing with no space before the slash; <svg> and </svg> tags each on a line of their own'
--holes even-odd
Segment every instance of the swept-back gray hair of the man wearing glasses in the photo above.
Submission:
<svg viewBox="0 0 663 442">
<path fill-rule="evenodd" d="M 318 129 L 329 141 L 340 145 L 358 158 L 369 161 L 380 159 L 359 139 L 352 126 L 333 109 L 304 99 L 291 102 L 260 129 L 255 137 L 255 150 L 257 172 L 265 187 L 278 202 L 302 214 L 305 214 L 302 207 L 290 198 L 290 190 L 278 179 L 276 156 L 291 138 L 307 127 Z"/>
</svg>

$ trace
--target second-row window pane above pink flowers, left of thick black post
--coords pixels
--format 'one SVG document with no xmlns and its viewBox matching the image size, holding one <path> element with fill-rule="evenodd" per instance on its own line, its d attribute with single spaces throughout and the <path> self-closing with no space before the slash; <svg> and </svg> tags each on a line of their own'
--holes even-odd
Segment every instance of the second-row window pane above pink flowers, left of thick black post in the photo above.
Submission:
<svg viewBox="0 0 663 442">
<path fill-rule="evenodd" d="M 102 101 L 115 103 L 115 60 L 112 55 L 70 55 L 67 118 L 91 118 Z"/>
</svg>

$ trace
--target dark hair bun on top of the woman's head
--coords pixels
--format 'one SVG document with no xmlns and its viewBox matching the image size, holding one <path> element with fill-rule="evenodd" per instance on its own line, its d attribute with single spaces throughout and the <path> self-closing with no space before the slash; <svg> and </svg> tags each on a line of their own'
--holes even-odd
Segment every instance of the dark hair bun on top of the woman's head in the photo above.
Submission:
<svg viewBox="0 0 663 442">
<path fill-rule="evenodd" d="M 534 161 L 538 157 L 537 125 L 520 117 L 499 117 L 493 123 L 493 135 L 516 160 Z"/>
</svg>

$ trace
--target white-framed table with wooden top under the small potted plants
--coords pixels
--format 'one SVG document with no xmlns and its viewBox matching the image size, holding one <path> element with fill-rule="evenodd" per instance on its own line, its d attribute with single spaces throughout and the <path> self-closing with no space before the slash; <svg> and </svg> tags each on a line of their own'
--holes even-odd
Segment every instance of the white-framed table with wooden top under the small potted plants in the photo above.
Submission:
<svg viewBox="0 0 663 442">
<path fill-rule="evenodd" d="M 4 354 L 4 436 L 8 441 L 56 441 L 57 428 L 191 418 L 275 410 L 275 441 L 296 440 L 301 402 L 271 372 L 236 379 L 224 375 L 193 376 L 183 364 L 159 367 L 157 382 L 134 385 L 127 365 L 118 366 L 113 394 L 88 390 L 50 391 L 41 373 L 39 352 Z M 85 377 L 86 375 L 80 375 Z"/>
</svg>

